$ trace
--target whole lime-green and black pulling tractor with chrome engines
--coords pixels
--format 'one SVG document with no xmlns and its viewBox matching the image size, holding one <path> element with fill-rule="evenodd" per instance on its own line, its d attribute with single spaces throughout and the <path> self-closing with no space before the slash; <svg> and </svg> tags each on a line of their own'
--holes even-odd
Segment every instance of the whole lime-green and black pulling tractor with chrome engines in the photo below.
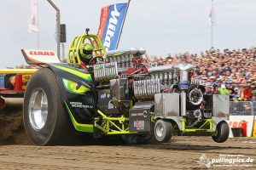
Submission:
<svg viewBox="0 0 256 170">
<path fill-rule="evenodd" d="M 86 65 L 84 43 L 93 46 L 94 56 Z M 228 139 L 229 96 L 205 95 L 204 86 L 190 81 L 191 64 L 150 66 L 143 49 L 107 54 L 99 37 L 88 33 L 73 38 L 68 63 L 42 61 L 24 49 L 22 54 L 28 64 L 41 66 L 24 95 L 24 125 L 33 144 L 64 144 L 81 135 L 139 144 L 168 142 L 172 135 Z"/>
</svg>

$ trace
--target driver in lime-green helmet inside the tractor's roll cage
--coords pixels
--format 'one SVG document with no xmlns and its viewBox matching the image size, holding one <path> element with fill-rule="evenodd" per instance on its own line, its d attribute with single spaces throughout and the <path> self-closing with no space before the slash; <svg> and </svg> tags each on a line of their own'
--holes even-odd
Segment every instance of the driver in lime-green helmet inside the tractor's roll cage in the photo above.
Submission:
<svg viewBox="0 0 256 170">
<path fill-rule="evenodd" d="M 80 59 L 84 65 L 89 65 L 90 59 L 92 59 L 93 47 L 90 43 L 84 43 L 79 48 Z"/>
</svg>

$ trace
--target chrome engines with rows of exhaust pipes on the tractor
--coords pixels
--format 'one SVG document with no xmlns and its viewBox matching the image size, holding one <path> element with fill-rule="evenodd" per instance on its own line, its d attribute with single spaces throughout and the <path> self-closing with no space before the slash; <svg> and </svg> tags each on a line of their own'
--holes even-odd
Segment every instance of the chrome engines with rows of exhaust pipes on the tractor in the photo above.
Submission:
<svg viewBox="0 0 256 170">
<path fill-rule="evenodd" d="M 178 103 L 172 104 L 177 105 L 178 113 L 176 116 L 186 117 L 188 127 L 195 126 L 203 118 L 212 116 L 212 106 L 207 105 L 204 97 L 205 88 L 189 80 L 189 73 L 194 65 L 181 63 L 178 65 L 149 66 L 145 63 L 143 54 L 145 54 L 143 50 L 123 51 L 120 54 L 110 53 L 106 63 L 94 65 L 94 79 L 97 82 L 96 88 L 99 89 L 99 99 L 102 99 L 102 96 L 108 96 L 108 99 L 106 98 L 106 101 L 100 105 L 112 103 L 116 108 L 112 112 L 116 113 L 119 105 L 125 105 L 122 111 L 127 109 L 128 112 L 127 101 L 129 100 L 132 100 L 134 104 L 157 103 L 156 94 L 159 101 L 162 98 L 159 94 L 178 94 L 164 98 L 167 101 L 168 99 L 172 100 L 173 96 L 177 98 Z M 109 82 L 111 83 L 109 84 Z M 102 88 L 106 84 L 109 84 L 110 88 Z M 124 84 L 126 88 L 124 88 Z M 125 94 L 124 99 L 119 97 L 123 94 Z M 166 102 L 165 105 L 170 104 Z M 162 113 L 163 116 L 165 114 L 167 113 Z"/>
</svg>

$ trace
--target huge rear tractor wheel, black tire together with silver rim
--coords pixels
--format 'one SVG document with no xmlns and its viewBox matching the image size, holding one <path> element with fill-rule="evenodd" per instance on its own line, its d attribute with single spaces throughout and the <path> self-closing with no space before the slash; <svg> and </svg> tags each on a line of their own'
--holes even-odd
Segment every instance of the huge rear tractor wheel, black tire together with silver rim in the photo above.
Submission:
<svg viewBox="0 0 256 170">
<path fill-rule="evenodd" d="M 61 94 L 53 71 L 43 68 L 30 78 L 23 105 L 26 135 L 36 145 L 69 144 L 71 122 L 61 105 Z"/>
</svg>

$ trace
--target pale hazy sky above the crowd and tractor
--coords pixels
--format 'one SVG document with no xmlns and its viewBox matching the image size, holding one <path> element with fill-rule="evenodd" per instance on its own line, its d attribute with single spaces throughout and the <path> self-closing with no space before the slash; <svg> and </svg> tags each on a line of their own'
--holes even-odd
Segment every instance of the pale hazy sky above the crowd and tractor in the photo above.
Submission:
<svg viewBox="0 0 256 170">
<path fill-rule="evenodd" d="M 53 0 L 67 25 L 67 43 L 73 36 L 96 33 L 102 6 L 125 0 Z M 28 32 L 31 0 L 0 0 L 0 68 L 26 64 L 21 48 L 38 48 L 38 34 Z M 148 54 L 200 53 L 210 48 L 208 14 L 211 0 L 131 0 L 119 49 L 143 47 Z M 56 50 L 55 11 L 46 0 L 38 0 L 41 49 Z M 256 1 L 214 0 L 217 25 L 215 48 L 256 46 Z"/>
</svg>

